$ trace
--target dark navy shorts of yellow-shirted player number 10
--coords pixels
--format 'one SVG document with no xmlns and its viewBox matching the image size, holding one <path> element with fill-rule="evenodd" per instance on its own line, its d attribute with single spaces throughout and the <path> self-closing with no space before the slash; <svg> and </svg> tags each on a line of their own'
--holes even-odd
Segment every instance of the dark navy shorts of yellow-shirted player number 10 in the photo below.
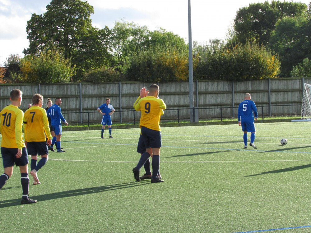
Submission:
<svg viewBox="0 0 311 233">
<path fill-rule="evenodd" d="M 3 168 L 13 167 L 14 163 L 16 167 L 25 166 L 28 164 L 28 154 L 26 147 L 22 148 L 21 158 L 16 158 L 17 148 L 1 147 L 1 155 L 3 161 Z"/>
</svg>

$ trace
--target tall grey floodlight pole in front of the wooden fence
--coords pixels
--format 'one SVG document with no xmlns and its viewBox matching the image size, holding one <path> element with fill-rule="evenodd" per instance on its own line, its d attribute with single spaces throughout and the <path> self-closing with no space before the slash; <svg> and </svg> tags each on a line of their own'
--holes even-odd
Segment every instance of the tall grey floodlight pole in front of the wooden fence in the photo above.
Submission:
<svg viewBox="0 0 311 233">
<path fill-rule="evenodd" d="M 192 32 L 191 32 L 191 3 L 188 0 L 188 32 L 189 32 L 189 103 L 190 122 L 194 122 L 193 117 L 193 62 L 192 62 Z"/>
</svg>

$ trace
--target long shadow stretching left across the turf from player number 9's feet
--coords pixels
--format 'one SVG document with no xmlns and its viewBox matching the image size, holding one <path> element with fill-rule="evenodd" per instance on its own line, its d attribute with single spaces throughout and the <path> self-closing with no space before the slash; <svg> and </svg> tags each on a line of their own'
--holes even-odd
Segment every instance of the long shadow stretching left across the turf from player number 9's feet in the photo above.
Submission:
<svg viewBox="0 0 311 233">
<path fill-rule="evenodd" d="M 147 184 L 151 184 L 151 183 L 134 181 L 134 182 L 128 182 L 128 183 L 115 184 L 115 185 L 104 185 L 104 186 L 99 186 L 99 187 L 67 190 L 67 191 L 57 192 L 57 193 L 30 196 L 30 198 L 36 199 L 38 200 L 38 202 L 41 202 L 41 201 L 48 201 L 48 200 L 59 199 L 59 198 L 74 197 L 74 196 L 80 196 L 80 195 L 101 193 L 105 191 L 132 188 L 135 186 L 147 185 Z M 10 206 L 17 206 L 17 205 L 21 205 L 21 198 L 0 201 L 0 208 L 6 208 Z"/>
</svg>

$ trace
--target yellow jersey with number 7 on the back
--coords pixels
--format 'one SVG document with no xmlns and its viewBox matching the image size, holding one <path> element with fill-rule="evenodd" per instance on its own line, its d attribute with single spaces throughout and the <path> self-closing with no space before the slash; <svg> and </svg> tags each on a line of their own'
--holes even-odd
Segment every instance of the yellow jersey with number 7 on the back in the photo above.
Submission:
<svg viewBox="0 0 311 233">
<path fill-rule="evenodd" d="M 26 142 L 45 142 L 45 134 L 51 139 L 49 121 L 44 108 L 33 106 L 24 115 L 24 136 Z"/>
</svg>

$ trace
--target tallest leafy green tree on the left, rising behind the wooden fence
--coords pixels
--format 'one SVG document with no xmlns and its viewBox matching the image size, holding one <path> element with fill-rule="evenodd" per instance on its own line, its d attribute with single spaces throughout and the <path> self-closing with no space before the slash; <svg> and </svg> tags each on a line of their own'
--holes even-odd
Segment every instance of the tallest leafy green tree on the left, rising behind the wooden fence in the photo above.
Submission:
<svg viewBox="0 0 311 233">
<path fill-rule="evenodd" d="M 27 22 L 30 44 L 24 49 L 25 54 L 39 54 L 56 46 L 63 51 L 65 59 L 71 59 L 76 65 L 75 80 L 95 66 L 107 65 L 110 55 L 105 41 L 110 30 L 92 27 L 94 9 L 88 2 L 52 0 L 46 9 L 43 15 L 32 14 Z"/>
</svg>

